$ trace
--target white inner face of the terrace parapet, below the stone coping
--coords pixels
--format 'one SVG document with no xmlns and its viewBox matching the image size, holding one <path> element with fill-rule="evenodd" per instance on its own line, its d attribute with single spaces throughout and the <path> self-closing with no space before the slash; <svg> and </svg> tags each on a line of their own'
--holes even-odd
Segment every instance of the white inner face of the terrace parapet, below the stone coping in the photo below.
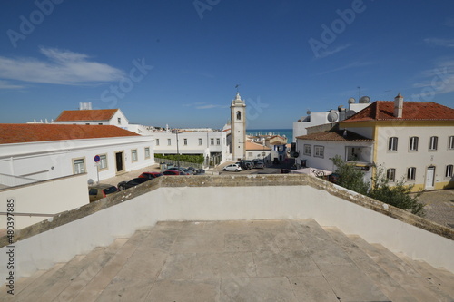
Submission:
<svg viewBox="0 0 454 302">
<path fill-rule="evenodd" d="M 321 226 L 336 226 L 346 234 L 358 234 L 391 251 L 454 271 L 453 240 L 311 186 L 248 186 L 159 188 L 24 239 L 15 244 L 16 276 L 68 261 L 157 221 L 235 219 L 315 219 Z M 0 248 L 0 263 L 5 257 L 5 248 Z M 5 272 L 1 275 L 5 280 Z"/>
</svg>

